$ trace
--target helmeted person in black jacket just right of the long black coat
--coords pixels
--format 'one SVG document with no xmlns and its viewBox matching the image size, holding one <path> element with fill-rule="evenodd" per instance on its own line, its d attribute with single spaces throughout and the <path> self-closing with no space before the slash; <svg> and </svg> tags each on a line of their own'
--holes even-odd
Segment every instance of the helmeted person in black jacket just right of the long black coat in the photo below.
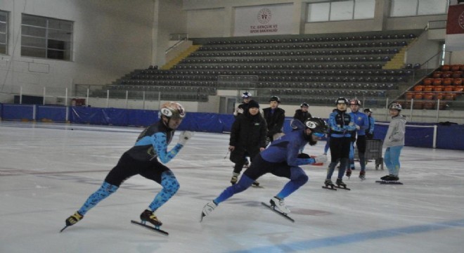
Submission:
<svg viewBox="0 0 464 253">
<path fill-rule="evenodd" d="M 272 96 L 269 99 L 269 108 L 263 109 L 264 119 L 267 124 L 267 139 L 266 144 L 283 135 L 283 122 L 285 121 L 285 110 L 278 108 L 281 104 L 281 99 L 278 96 Z"/>
</svg>

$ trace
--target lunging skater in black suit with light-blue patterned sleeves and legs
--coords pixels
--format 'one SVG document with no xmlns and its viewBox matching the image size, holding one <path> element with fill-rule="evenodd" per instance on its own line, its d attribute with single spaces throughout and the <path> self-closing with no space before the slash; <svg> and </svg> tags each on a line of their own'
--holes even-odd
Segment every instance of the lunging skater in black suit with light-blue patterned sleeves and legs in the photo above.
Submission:
<svg viewBox="0 0 464 253">
<path fill-rule="evenodd" d="M 160 183 L 162 186 L 162 190 L 155 195 L 153 202 L 140 215 L 142 221 L 148 221 L 154 226 L 162 225 L 162 222 L 157 219 L 154 213 L 179 190 L 179 182 L 176 176 L 164 164 L 179 153 L 181 148 L 193 136 L 193 133 L 183 131 L 177 144 L 172 150 L 168 151 L 167 145 L 171 143 L 174 130 L 181 124 L 182 119 L 186 116 L 186 111 L 179 103 L 167 102 L 161 106 L 159 114 L 160 121 L 148 126 L 141 132 L 135 145 L 121 156 L 117 165 L 106 176 L 101 187 L 89 196 L 75 214 L 66 219 L 66 226 L 72 226 L 83 219 L 89 209 L 115 193 L 126 179 L 136 174 Z"/>
</svg>

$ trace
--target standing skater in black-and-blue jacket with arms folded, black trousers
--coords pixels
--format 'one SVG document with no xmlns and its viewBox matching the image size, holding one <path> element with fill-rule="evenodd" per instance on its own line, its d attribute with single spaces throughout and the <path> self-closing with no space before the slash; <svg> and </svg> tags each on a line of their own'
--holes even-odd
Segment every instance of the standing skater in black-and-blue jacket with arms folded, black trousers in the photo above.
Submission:
<svg viewBox="0 0 464 253">
<path fill-rule="evenodd" d="M 354 124 L 353 118 L 347 113 L 347 98 L 337 98 L 335 105 L 337 106 L 337 110 L 330 113 L 328 119 L 328 126 L 330 128 L 330 164 L 324 184 L 326 184 L 326 187 L 335 187 L 332 182 L 332 175 L 338 162 L 340 162 L 337 181 L 335 183 L 339 187 L 346 188 L 347 185 L 343 182 L 343 176 L 349 162 L 349 145 L 351 143 L 352 131 L 359 129 L 359 126 Z"/>
</svg>

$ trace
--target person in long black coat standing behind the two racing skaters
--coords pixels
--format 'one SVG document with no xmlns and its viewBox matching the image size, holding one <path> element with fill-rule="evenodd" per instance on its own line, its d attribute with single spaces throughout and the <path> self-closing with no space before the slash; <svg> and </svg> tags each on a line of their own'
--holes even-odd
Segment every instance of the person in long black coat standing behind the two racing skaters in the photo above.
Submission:
<svg viewBox="0 0 464 253">
<path fill-rule="evenodd" d="M 245 157 L 250 156 L 251 162 L 259 152 L 266 148 L 266 121 L 259 113 L 259 104 L 250 100 L 248 110 L 238 115 L 232 124 L 231 138 L 228 150 L 231 151 L 231 162 L 235 163 L 231 183 L 237 183 L 238 176 L 245 164 Z M 259 183 L 254 182 L 255 186 Z"/>
</svg>

